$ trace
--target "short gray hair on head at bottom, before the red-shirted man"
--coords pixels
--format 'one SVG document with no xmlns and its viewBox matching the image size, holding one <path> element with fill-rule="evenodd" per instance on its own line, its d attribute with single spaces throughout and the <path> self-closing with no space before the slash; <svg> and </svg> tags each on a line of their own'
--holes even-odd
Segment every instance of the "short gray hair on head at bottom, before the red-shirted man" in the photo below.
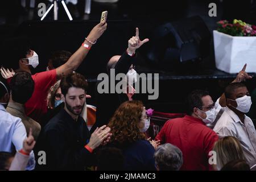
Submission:
<svg viewBox="0 0 256 182">
<path fill-rule="evenodd" d="M 156 148 L 154 158 L 160 171 L 179 171 L 183 164 L 181 150 L 171 143 L 162 144 Z"/>
</svg>

